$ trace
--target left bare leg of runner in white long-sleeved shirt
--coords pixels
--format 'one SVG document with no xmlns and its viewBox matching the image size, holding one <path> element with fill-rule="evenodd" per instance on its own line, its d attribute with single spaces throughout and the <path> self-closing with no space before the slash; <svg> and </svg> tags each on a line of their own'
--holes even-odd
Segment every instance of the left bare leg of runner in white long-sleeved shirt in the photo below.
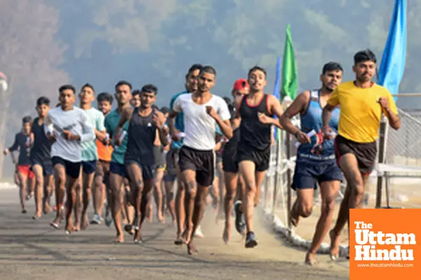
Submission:
<svg viewBox="0 0 421 280">
<path fill-rule="evenodd" d="M 63 218 L 62 206 L 65 200 L 66 191 L 66 167 L 63 162 L 57 162 L 54 165 L 54 179 L 55 179 L 55 205 L 57 211 L 55 212 L 55 219 L 50 224 L 53 228 L 58 228 Z"/>
</svg>

